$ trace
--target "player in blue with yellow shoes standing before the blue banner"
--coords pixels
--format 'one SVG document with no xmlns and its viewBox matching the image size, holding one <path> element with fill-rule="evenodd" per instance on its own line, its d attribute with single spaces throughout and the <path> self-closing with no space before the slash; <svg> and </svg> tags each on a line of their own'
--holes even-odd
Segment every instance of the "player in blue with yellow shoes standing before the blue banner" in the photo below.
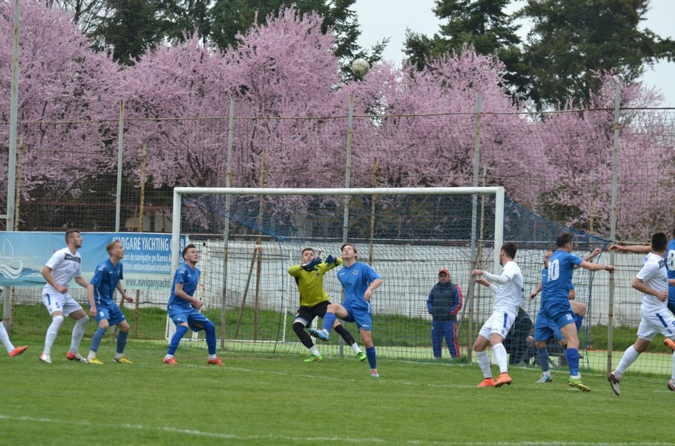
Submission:
<svg viewBox="0 0 675 446">
<path fill-rule="evenodd" d="M 115 289 L 117 289 L 125 301 L 134 301 L 134 298 L 124 291 L 120 283 L 120 280 L 124 278 L 121 262 L 124 258 L 124 247 L 119 240 L 113 240 L 107 244 L 105 249 L 108 251 L 109 258 L 96 266 L 94 277 L 89 280 L 89 285 L 87 286 L 89 316 L 96 317 L 96 323 L 98 324 L 98 330 L 91 337 L 87 361 L 89 364 L 103 365 L 103 362 L 100 362 L 98 357 L 96 357 L 98 346 L 100 346 L 100 341 L 105 336 L 105 332 L 107 332 L 110 325 L 117 325 L 119 333 L 117 334 L 115 362 L 119 364 L 132 364 L 124 356 L 124 348 L 127 345 L 127 337 L 129 336 L 129 323 L 113 298 Z"/>
</svg>

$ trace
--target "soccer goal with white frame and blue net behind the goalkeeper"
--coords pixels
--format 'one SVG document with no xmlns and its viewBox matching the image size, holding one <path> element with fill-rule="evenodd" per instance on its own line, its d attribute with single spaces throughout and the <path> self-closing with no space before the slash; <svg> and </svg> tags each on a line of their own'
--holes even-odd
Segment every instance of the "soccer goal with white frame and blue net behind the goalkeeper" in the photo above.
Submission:
<svg viewBox="0 0 675 446">
<path fill-rule="evenodd" d="M 427 299 L 439 269 L 448 269 L 464 297 L 457 314 L 464 357 L 493 303 L 489 289 L 474 287 L 471 269 L 498 273 L 495 247 L 516 242 L 516 262 L 525 278 L 523 308 L 534 321 L 538 299 L 527 296 L 541 278 L 544 251 L 569 230 L 511 203 L 501 187 L 175 188 L 173 212 L 173 268 L 182 261 L 179 235 L 184 235 L 200 251 L 198 297 L 202 312 L 218 325 L 220 347 L 299 355 L 307 350 L 292 330 L 299 294 L 287 270 L 301 263 L 306 247 L 322 257 L 339 256 L 340 246 L 349 242 L 358 249 L 358 260 L 383 277 L 371 299 L 380 357 L 433 357 Z M 606 244 L 576 235 L 580 255 Z M 332 302 L 342 301 L 337 270 L 324 276 Z M 578 299 L 588 305 L 592 283 L 590 273 L 575 276 Z M 314 324 L 320 327 L 321 320 Z M 360 344 L 356 325 L 343 324 Z M 344 347 L 333 336 L 319 348 L 322 355 L 340 355 Z M 449 357 L 445 345 L 443 350 Z M 525 351 L 512 357 L 525 360 Z"/>
</svg>

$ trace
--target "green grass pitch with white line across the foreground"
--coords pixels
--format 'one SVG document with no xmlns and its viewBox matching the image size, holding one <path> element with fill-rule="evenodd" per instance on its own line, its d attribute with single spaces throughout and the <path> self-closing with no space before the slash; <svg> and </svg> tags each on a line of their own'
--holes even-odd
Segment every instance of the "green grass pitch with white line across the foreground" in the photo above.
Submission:
<svg viewBox="0 0 675 446">
<path fill-rule="evenodd" d="M 86 344 L 86 342 L 84 343 Z M 104 366 L 65 359 L 53 364 L 31 345 L 0 357 L 0 431 L 6 444 L 190 443 L 212 445 L 620 444 L 671 443 L 668 377 L 629 373 L 617 397 L 602 373 L 585 373 L 593 389 L 537 384 L 532 368 L 510 371 L 514 384 L 477 389 L 477 366 L 380 359 L 381 377 L 352 357 L 305 364 L 300 355 L 226 353 L 207 366 L 203 348 L 181 346 L 178 366 L 161 364 L 166 344 L 130 341 L 134 364 Z M 493 367 L 493 372 L 496 373 Z M 667 403 L 666 403 L 667 404 Z M 651 414 L 651 415 L 647 415 Z"/>
</svg>

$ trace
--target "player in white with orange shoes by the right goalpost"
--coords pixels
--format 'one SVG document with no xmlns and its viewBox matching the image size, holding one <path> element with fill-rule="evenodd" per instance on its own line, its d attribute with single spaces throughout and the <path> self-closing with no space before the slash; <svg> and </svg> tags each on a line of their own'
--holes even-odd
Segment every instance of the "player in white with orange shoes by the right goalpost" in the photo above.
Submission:
<svg viewBox="0 0 675 446">
<path fill-rule="evenodd" d="M 484 278 L 477 279 L 476 283 L 489 287 L 496 294 L 492 316 L 483 324 L 473 344 L 473 350 L 476 353 L 478 365 L 480 365 L 480 370 L 483 372 L 484 377 L 482 382 L 478 384 L 478 387 L 501 387 L 504 384 L 510 385 L 513 382 L 509 376 L 507 351 L 502 343 L 507 334 L 509 334 L 511 325 L 514 325 L 516 315 L 518 314 L 518 307 L 523 303 L 523 274 L 520 272 L 518 264 L 514 262 L 516 251 L 518 251 L 518 247 L 516 247 L 515 243 L 507 242 L 502 244 L 502 249 L 499 253 L 502 271 L 499 275 L 490 274 L 482 269 L 471 271 L 471 276 L 473 277 L 484 276 Z M 498 285 L 494 285 L 486 279 Z M 492 352 L 497 359 L 500 372 L 496 381 L 492 378 L 490 359 L 486 352 L 486 348 L 490 344 L 492 345 Z"/>
</svg>

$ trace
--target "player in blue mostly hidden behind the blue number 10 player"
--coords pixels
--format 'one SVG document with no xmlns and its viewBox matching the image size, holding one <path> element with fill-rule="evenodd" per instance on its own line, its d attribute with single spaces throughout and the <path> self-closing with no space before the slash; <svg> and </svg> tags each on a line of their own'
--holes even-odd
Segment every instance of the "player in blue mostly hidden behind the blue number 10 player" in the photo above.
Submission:
<svg viewBox="0 0 675 446">
<path fill-rule="evenodd" d="M 590 262 L 590 260 L 593 260 L 593 258 L 595 256 L 598 256 L 599 253 L 601 252 L 602 249 L 595 248 L 593 252 L 590 253 L 590 255 L 584 257 L 584 260 L 586 260 L 586 262 Z M 553 253 L 554 250 L 549 249 L 544 254 L 544 267 L 541 270 L 541 283 L 539 283 L 536 289 L 529 295 L 530 299 L 534 299 L 540 291 L 542 296 L 545 295 L 548 285 L 548 260 L 551 258 Z M 571 280 L 569 283 L 569 287 L 570 291 L 568 294 L 568 299 L 570 301 L 572 311 L 575 313 L 576 316 L 575 325 L 577 325 L 577 332 L 579 332 L 579 330 L 581 329 L 581 321 L 583 321 L 584 315 L 586 314 L 586 305 L 584 305 L 581 302 L 575 301 L 577 295 L 575 293 L 575 288 L 574 285 L 572 285 Z M 534 347 L 536 348 L 536 357 L 539 366 L 541 366 L 542 372 L 538 382 L 552 382 L 553 380 L 548 362 L 549 360 L 548 349 L 546 348 L 546 342 L 549 339 L 555 339 L 556 341 L 558 341 L 561 347 L 565 348 L 566 345 L 565 337 L 563 337 L 563 334 L 556 326 L 556 323 L 554 323 L 554 321 L 551 321 L 545 314 L 543 314 L 540 308 L 536 316 L 536 321 L 534 322 L 534 340 L 535 340 Z"/>
</svg>

